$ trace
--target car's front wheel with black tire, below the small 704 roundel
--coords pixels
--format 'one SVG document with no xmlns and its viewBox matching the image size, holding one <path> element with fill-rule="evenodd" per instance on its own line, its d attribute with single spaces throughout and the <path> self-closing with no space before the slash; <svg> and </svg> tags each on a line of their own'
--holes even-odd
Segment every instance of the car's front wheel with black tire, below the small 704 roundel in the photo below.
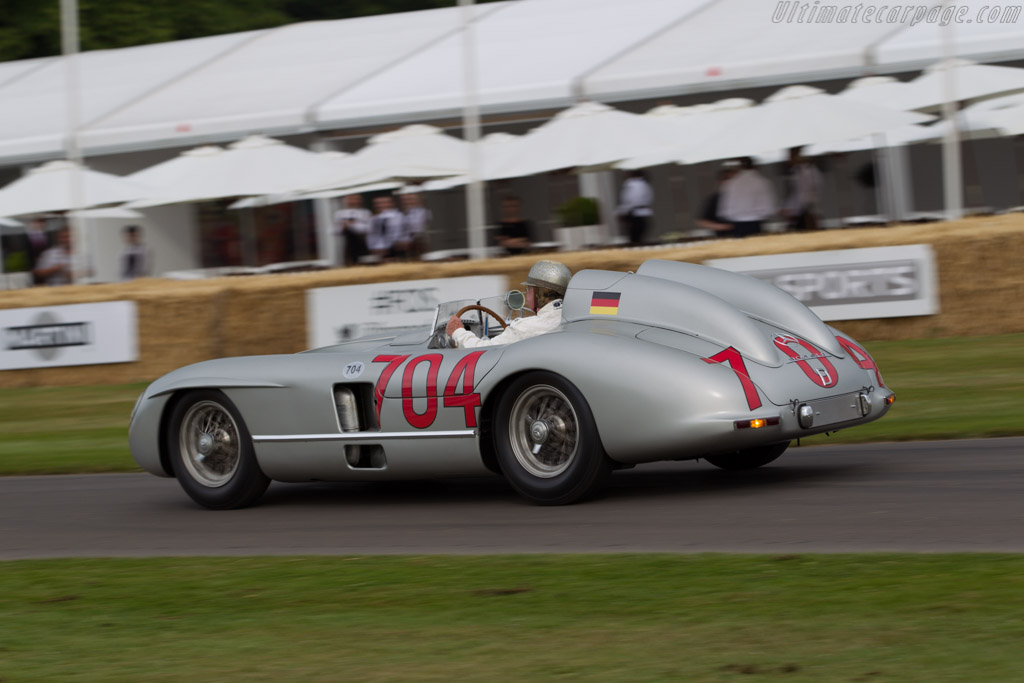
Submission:
<svg viewBox="0 0 1024 683">
<path fill-rule="evenodd" d="M 168 423 L 167 452 L 178 483 L 200 505 L 231 510 L 252 505 L 270 479 L 256 462 L 239 409 L 220 391 L 190 391 Z"/>
</svg>

